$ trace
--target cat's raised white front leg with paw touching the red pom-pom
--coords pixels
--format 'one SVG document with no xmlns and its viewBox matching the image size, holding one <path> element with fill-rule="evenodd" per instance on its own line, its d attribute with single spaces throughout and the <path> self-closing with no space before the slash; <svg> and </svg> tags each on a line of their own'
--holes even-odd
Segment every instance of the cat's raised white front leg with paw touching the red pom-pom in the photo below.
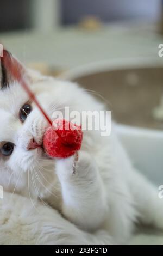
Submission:
<svg viewBox="0 0 163 256">
<path fill-rule="evenodd" d="M 107 204 L 95 160 L 79 151 L 78 155 L 57 160 L 56 172 L 61 184 L 62 214 L 85 230 L 99 228 Z"/>
</svg>

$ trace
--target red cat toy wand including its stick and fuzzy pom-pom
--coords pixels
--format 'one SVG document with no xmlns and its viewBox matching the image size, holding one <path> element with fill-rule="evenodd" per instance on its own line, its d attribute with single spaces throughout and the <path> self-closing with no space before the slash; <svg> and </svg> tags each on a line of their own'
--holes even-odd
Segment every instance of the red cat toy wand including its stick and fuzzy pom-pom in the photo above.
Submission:
<svg viewBox="0 0 163 256">
<path fill-rule="evenodd" d="M 61 158 L 74 155 L 82 145 L 83 132 L 81 126 L 66 120 L 57 119 L 52 122 L 21 75 L 21 64 L 5 50 L 3 51 L 1 61 L 4 62 L 7 69 L 10 70 L 11 76 L 21 84 L 22 88 L 29 95 L 29 98 L 35 102 L 36 106 L 51 125 L 43 136 L 43 148 L 47 155 Z"/>
</svg>

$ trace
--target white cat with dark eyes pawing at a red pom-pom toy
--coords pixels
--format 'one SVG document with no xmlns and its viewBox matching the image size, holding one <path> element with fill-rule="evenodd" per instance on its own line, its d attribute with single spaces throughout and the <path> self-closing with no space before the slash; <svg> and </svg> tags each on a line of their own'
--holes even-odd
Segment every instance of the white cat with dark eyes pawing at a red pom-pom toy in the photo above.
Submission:
<svg viewBox="0 0 163 256">
<path fill-rule="evenodd" d="M 15 58 L 9 53 L 5 56 L 12 68 Z M 109 137 L 101 137 L 100 131 L 84 131 L 78 157 L 48 159 L 41 145 L 49 125 L 20 84 L 13 80 L 6 63 L 3 58 L 0 185 L 4 190 L 30 197 L 33 204 L 37 199 L 46 202 L 81 230 L 93 233 L 103 229 L 115 243 L 126 243 L 138 222 L 162 229 L 162 201 L 153 185 L 134 170 L 115 135 L 114 124 Z M 19 72 L 50 116 L 57 110 L 64 111 L 65 106 L 80 113 L 105 110 L 102 103 L 75 83 L 41 76 L 21 64 Z M 55 217 L 54 211 L 54 220 Z M 64 218 L 60 216 L 58 220 L 61 227 Z M 26 240 L 26 235 L 20 237 L 20 242 Z M 107 239 L 104 243 L 109 243 Z M 78 237 L 77 241 L 84 240 Z M 64 243 L 72 242 L 67 236 Z"/>
</svg>

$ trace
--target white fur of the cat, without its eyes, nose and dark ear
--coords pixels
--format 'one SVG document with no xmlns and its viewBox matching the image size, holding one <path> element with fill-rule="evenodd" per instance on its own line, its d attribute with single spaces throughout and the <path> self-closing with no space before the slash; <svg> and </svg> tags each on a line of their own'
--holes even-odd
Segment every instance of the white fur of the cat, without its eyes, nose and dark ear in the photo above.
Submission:
<svg viewBox="0 0 163 256">
<path fill-rule="evenodd" d="M 50 115 L 65 106 L 80 113 L 105 109 L 75 83 L 30 71 L 30 86 Z M 109 137 L 101 137 L 100 131 L 84 132 L 78 160 L 47 159 L 40 148 L 27 150 L 32 137 L 42 142 L 48 127 L 34 103 L 24 124 L 18 119 L 28 100 L 17 82 L 0 92 L 0 142 L 16 145 L 10 157 L 0 155 L 0 185 L 23 196 L 10 198 L 5 193 L 0 200 L 1 244 L 126 243 L 137 222 L 163 228 L 161 200 L 153 185 L 134 170 L 114 123 Z M 99 230 L 104 233 L 99 235 Z"/>
</svg>

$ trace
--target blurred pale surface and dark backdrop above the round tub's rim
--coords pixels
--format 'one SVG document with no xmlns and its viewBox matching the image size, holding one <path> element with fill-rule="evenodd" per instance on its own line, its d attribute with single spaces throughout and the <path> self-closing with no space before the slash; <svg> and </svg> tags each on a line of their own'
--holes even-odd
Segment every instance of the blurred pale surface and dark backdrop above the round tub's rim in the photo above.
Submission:
<svg viewBox="0 0 163 256">
<path fill-rule="evenodd" d="M 161 0 L 1 0 L 0 40 L 24 62 L 57 69 L 157 57 L 162 7 Z"/>
</svg>

